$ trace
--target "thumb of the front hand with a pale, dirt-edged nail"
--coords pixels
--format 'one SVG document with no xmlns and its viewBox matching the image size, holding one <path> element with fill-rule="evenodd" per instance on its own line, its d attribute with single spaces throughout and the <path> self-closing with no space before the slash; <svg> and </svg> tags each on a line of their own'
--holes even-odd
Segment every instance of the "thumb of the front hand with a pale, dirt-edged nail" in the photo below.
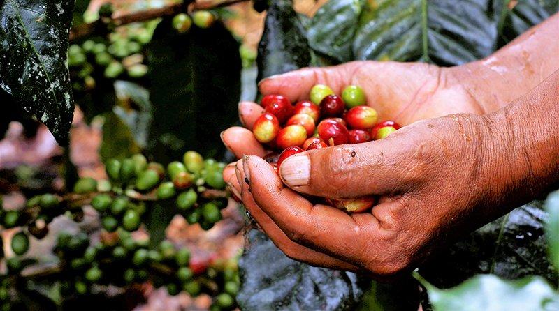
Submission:
<svg viewBox="0 0 559 311">
<path fill-rule="evenodd" d="M 315 149 L 282 162 L 282 181 L 298 192 L 331 199 L 384 195 L 402 187 L 405 176 L 398 144 L 382 139 L 365 144 Z"/>
</svg>

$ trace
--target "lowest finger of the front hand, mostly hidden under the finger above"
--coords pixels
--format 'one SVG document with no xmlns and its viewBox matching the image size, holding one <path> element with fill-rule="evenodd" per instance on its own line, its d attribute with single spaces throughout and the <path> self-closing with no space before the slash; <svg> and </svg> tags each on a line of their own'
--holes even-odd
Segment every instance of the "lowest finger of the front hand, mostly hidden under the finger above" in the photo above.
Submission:
<svg viewBox="0 0 559 311">
<path fill-rule="evenodd" d="M 242 172 L 242 160 L 238 161 L 240 164 L 239 176 L 243 180 L 245 178 L 244 172 Z M 245 204 L 245 208 L 250 212 L 252 218 L 258 222 L 260 227 L 268 234 L 270 240 L 286 254 L 287 257 L 295 259 L 298 261 L 305 261 L 314 266 L 322 266 L 326 268 L 333 268 L 337 270 L 346 271 L 360 271 L 361 269 L 352 264 L 348 264 L 340 259 L 335 259 L 324 253 L 311 250 L 310 248 L 305 248 L 305 246 L 297 244 L 291 241 L 286 234 L 279 229 L 273 220 L 264 213 L 261 208 L 254 202 L 251 192 L 249 192 L 249 185 L 245 182 L 241 184 L 242 191 L 242 202 Z"/>
</svg>

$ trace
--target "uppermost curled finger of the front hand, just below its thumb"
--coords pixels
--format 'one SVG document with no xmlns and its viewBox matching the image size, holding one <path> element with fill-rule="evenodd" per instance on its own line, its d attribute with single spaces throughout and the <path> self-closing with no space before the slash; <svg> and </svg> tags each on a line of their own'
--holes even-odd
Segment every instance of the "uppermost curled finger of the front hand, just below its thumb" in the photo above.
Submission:
<svg viewBox="0 0 559 311">
<path fill-rule="evenodd" d="M 264 213 L 294 242 L 325 252 L 358 266 L 367 266 L 363 255 L 375 243 L 379 222 L 370 213 L 348 215 L 326 205 L 313 205 L 284 188 L 273 168 L 254 156 L 245 157 L 250 192 Z M 369 255 L 369 257 L 372 255 Z"/>
</svg>

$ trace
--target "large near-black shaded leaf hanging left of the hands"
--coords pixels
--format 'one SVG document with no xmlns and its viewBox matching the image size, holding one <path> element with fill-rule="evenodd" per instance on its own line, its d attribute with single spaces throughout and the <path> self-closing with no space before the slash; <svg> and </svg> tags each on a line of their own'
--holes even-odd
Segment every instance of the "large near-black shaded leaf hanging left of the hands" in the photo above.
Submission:
<svg viewBox="0 0 559 311">
<path fill-rule="evenodd" d="M 194 149 L 221 156 L 219 133 L 238 119 L 239 44 L 217 22 L 209 29 L 177 33 L 170 20 L 157 26 L 147 45 L 154 109 L 149 150 L 159 162 Z"/>
</svg>

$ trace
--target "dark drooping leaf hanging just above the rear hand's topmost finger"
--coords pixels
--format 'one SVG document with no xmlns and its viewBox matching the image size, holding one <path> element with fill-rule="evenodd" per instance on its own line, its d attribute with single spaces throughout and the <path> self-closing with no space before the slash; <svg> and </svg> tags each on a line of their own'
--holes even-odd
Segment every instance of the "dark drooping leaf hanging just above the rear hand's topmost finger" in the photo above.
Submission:
<svg viewBox="0 0 559 311">
<path fill-rule="evenodd" d="M 309 66 L 310 61 L 305 29 L 293 10 L 292 1 L 270 1 L 256 57 L 258 81 Z"/>
</svg>

